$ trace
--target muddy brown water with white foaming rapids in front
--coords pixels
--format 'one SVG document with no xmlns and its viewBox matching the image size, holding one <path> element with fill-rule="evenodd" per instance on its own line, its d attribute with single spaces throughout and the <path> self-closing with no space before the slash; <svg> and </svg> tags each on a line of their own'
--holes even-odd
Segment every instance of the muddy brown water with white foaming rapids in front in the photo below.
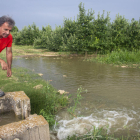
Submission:
<svg viewBox="0 0 140 140">
<path fill-rule="evenodd" d="M 83 134 L 85 128 L 105 127 L 118 135 L 140 131 L 140 69 L 121 68 L 83 61 L 80 57 L 28 57 L 15 59 L 13 66 L 25 67 L 58 90 L 73 95 L 82 86 L 81 106 L 73 118 L 66 110 L 56 116 L 57 137 L 64 139 L 74 133 Z"/>
</svg>

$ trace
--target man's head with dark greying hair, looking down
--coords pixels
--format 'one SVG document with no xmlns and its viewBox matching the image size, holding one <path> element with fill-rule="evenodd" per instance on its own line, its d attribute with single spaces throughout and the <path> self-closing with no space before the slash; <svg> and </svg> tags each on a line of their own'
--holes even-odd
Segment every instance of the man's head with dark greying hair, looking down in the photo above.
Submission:
<svg viewBox="0 0 140 140">
<path fill-rule="evenodd" d="M 15 21 L 11 17 L 8 16 L 0 17 L 0 38 L 8 37 L 14 25 Z"/>
</svg>

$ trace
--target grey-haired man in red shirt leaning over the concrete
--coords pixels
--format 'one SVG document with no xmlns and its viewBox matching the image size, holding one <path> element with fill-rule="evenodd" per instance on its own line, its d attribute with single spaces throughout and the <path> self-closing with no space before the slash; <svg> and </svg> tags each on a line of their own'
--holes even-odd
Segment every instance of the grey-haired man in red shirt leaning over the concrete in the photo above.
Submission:
<svg viewBox="0 0 140 140">
<path fill-rule="evenodd" d="M 11 65 L 12 65 L 12 35 L 10 31 L 14 27 L 15 22 L 8 16 L 0 17 L 0 53 L 6 48 L 7 63 L 0 58 L 0 64 L 3 70 L 7 70 L 7 77 L 11 77 Z M 4 92 L 0 90 L 0 97 L 4 96 Z"/>
</svg>

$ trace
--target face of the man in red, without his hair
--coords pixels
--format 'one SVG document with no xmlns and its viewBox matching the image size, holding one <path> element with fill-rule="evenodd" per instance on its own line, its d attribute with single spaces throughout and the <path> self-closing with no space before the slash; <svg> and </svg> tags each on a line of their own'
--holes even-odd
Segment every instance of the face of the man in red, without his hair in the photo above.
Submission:
<svg viewBox="0 0 140 140">
<path fill-rule="evenodd" d="M 0 38 L 7 38 L 11 30 L 12 27 L 10 27 L 7 22 L 2 24 L 2 26 L 0 26 Z"/>
</svg>

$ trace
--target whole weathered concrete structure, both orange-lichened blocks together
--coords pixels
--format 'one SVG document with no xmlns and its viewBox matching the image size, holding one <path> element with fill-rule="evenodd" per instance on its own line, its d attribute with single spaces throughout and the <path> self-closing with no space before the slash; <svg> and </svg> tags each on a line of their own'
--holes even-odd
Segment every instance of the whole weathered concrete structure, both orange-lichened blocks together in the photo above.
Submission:
<svg viewBox="0 0 140 140">
<path fill-rule="evenodd" d="M 0 97 L 0 114 L 12 110 L 25 120 L 0 126 L 0 140 L 50 140 L 48 122 L 41 115 L 30 115 L 30 99 L 23 91 Z"/>
</svg>

